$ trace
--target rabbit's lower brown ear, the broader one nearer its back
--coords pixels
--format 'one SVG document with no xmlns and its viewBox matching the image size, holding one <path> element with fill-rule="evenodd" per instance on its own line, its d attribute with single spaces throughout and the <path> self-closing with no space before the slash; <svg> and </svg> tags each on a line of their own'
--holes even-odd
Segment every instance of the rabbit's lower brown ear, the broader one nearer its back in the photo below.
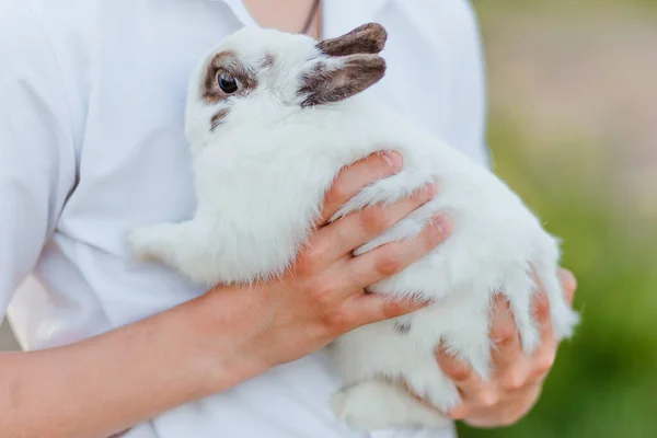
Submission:
<svg viewBox="0 0 657 438">
<path fill-rule="evenodd" d="M 301 106 L 337 102 L 360 93 L 385 73 L 385 61 L 377 55 L 349 55 L 318 60 L 301 77 L 297 94 Z"/>
</svg>

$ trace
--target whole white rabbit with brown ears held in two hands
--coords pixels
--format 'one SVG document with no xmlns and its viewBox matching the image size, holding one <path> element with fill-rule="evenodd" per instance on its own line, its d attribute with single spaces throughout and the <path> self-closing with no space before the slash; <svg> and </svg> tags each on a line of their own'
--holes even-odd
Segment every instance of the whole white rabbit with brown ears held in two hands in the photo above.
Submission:
<svg viewBox="0 0 657 438">
<path fill-rule="evenodd" d="M 367 24 L 337 38 L 246 27 L 223 39 L 191 79 L 186 135 L 198 207 L 183 223 L 132 231 L 141 258 L 160 260 L 207 285 L 247 284 L 280 275 L 318 218 L 345 165 L 381 149 L 399 151 L 403 170 L 366 187 L 333 218 L 395 201 L 439 181 L 437 196 L 359 247 L 361 254 L 415 237 L 436 212 L 453 222 L 449 239 L 371 291 L 436 303 L 338 338 L 333 355 L 344 378 L 336 415 L 354 427 L 436 426 L 447 419 L 410 396 L 403 379 L 441 410 L 460 402 L 441 372 L 442 344 L 488 376 L 489 306 L 504 293 L 532 351 L 539 342 L 532 272 L 542 280 L 555 336 L 578 315 L 557 279 L 557 241 L 503 182 L 366 91 L 384 74 L 378 54 L 385 31 Z M 422 99 L 422 96 L 418 96 Z M 404 332 L 404 333 L 402 333 Z"/>
</svg>

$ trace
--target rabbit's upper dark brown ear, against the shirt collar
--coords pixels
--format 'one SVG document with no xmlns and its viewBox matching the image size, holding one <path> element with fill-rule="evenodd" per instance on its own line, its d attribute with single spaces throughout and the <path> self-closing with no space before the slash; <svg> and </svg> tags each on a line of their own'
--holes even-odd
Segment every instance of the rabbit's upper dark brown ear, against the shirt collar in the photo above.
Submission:
<svg viewBox="0 0 657 438">
<path fill-rule="evenodd" d="M 364 24 L 351 32 L 318 43 L 318 48 L 330 56 L 378 54 L 383 50 L 388 33 L 378 23 Z"/>
</svg>

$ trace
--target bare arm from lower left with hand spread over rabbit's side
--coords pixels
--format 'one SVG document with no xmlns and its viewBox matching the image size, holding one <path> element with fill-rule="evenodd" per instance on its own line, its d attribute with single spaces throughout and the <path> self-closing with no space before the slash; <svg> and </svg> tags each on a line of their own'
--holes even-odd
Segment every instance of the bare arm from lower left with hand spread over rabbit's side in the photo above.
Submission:
<svg viewBox="0 0 657 438">
<path fill-rule="evenodd" d="M 107 437 L 304 357 L 354 328 L 426 306 L 393 302 L 365 288 L 395 274 L 391 262 L 402 270 L 419 260 L 446 238 L 445 227 L 351 254 L 428 201 L 433 189 L 328 224 L 341 206 L 401 164 L 399 154 L 387 153 L 344 169 L 311 244 L 284 275 L 215 289 L 78 344 L 0 354 L 0 437 Z"/>
</svg>

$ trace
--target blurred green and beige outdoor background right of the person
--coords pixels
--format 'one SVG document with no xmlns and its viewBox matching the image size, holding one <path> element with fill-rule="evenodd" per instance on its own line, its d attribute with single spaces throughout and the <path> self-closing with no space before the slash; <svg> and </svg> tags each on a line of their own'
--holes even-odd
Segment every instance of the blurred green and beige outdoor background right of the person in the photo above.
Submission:
<svg viewBox="0 0 657 438">
<path fill-rule="evenodd" d="M 496 172 L 563 238 L 583 324 L 518 425 L 657 437 L 657 1 L 474 0 Z"/>
</svg>

